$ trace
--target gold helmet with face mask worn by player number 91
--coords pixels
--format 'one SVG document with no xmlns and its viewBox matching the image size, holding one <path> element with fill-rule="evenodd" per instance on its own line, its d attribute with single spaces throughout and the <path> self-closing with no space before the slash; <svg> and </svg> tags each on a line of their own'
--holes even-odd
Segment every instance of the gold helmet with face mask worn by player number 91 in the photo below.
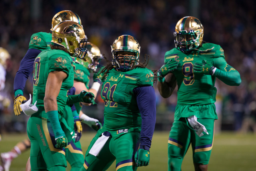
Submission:
<svg viewBox="0 0 256 171">
<path fill-rule="evenodd" d="M 111 46 L 113 67 L 120 71 L 130 70 L 131 67 L 138 64 L 140 48 L 138 41 L 133 36 L 121 35 L 116 38 Z M 122 59 L 119 59 L 117 52 L 133 52 L 135 57 L 122 57 Z M 123 64 L 121 65 L 121 63 Z M 127 63 L 129 63 L 129 65 L 127 65 Z"/>
</svg>

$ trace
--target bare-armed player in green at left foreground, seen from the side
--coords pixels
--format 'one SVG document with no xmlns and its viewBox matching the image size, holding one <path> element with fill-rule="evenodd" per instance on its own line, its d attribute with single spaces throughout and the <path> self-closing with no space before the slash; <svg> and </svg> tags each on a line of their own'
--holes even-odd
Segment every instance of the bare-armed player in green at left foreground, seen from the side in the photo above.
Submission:
<svg viewBox="0 0 256 171">
<path fill-rule="evenodd" d="M 58 23 L 52 33 L 51 49 L 42 51 L 35 59 L 33 74 L 33 103 L 38 111 L 27 123 L 31 142 L 31 170 L 66 170 L 65 147 L 73 141 L 73 129 L 67 125 L 63 112 L 67 104 L 93 103 L 94 96 L 82 91 L 67 96 L 74 80 L 74 54 L 83 58 L 87 42 L 82 26 L 74 21 Z M 72 116 L 71 116 L 72 117 Z"/>
</svg>

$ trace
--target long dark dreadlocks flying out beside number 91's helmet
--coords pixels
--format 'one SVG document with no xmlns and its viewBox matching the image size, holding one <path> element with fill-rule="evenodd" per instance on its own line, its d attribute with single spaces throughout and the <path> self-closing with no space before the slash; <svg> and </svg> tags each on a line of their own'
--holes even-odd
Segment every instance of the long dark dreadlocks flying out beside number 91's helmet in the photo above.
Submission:
<svg viewBox="0 0 256 171">
<path fill-rule="evenodd" d="M 146 59 L 146 56 L 148 57 L 148 59 Z M 101 78 L 102 80 L 104 80 L 105 77 L 106 77 L 106 75 L 108 74 L 108 72 L 114 68 L 113 65 L 112 65 L 112 62 L 109 61 L 109 60 L 107 60 L 107 58 L 105 57 L 104 54 L 103 54 L 103 58 L 107 61 L 107 66 L 106 66 L 105 68 L 103 68 L 102 71 L 100 72 L 100 74 L 101 74 L 101 73 L 104 73 L 104 75 L 103 75 L 102 78 Z M 146 68 L 146 66 L 147 66 L 147 64 L 148 64 L 148 61 L 149 61 L 149 55 L 145 54 L 145 55 L 144 55 L 144 62 L 141 63 L 141 62 L 137 61 L 138 64 L 132 66 L 132 68 L 131 68 L 130 70 L 133 70 L 133 69 L 135 69 L 135 68 Z M 157 70 L 151 70 L 151 71 L 154 73 L 154 72 L 156 72 Z M 157 75 L 157 74 L 154 73 L 154 75 Z M 155 82 L 155 81 L 156 81 L 156 79 L 153 80 L 153 82 Z"/>
</svg>

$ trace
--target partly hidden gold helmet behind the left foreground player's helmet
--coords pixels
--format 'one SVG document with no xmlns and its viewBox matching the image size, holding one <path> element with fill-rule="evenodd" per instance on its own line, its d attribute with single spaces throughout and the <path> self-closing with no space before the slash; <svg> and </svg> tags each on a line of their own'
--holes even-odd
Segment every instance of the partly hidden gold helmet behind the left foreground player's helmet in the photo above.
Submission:
<svg viewBox="0 0 256 171">
<path fill-rule="evenodd" d="M 77 22 L 78 24 L 81 24 L 81 19 L 80 17 L 74 13 L 73 11 L 69 11 L 69 10 L 64 10 L 64 11 L 60 11 L 57 14 L 55 14 L 55 16 L 52 18 L 52 22 L 51 22 L 51 31 L 53 31 L 53 28 L 55 27 L 55 25 L 57 25 L 59 22 L 62 21 L 66 21 L 66 20 L 70 20 L 70 21 L 74 21 Z M 82 26 L 83 27 L 83 26 Z"/>
</svg>

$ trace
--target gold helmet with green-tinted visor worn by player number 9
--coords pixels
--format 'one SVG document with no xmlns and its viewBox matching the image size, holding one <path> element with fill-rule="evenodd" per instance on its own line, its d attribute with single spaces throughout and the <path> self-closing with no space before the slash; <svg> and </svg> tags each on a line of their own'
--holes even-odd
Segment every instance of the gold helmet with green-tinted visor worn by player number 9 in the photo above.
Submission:
<svg viewBox="0 0 256 171">
<path fill-rule="evenodd" d="M 197 48 L 203 40 L 204 27 L 196 17 L 183 17 L 175 27 L 175 47 L 181 51 Z"/>
</svg>

